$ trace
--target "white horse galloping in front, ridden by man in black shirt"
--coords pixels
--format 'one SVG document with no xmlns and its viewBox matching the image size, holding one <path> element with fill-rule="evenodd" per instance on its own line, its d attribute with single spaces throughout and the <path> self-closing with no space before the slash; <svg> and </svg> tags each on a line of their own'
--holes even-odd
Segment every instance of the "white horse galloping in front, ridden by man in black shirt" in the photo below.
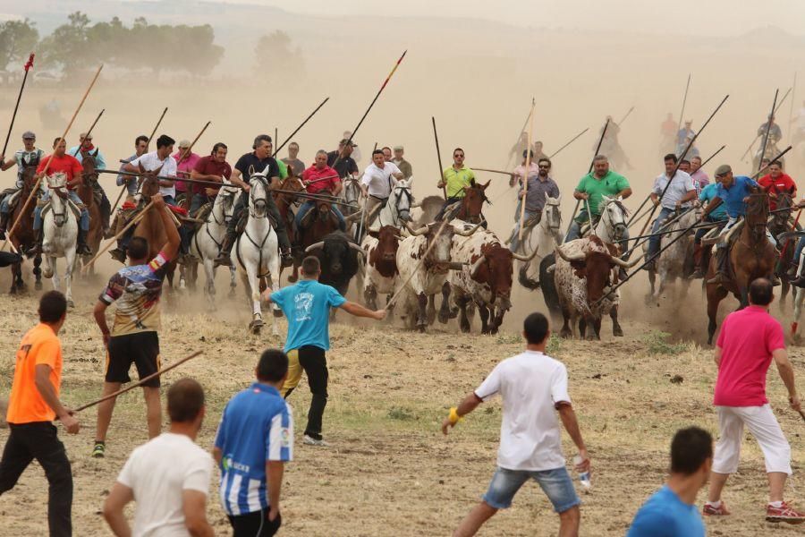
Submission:
<svg viewBox="0 0 805 537">
<path fill-rule="evenodd" d="M 249 329 L 252 334 L 259 334 L 264 324 L 260 311 L 260 281 L 266 278 L 268 288 L 279 288 L 280 255 L 276 232 L 268 219 L 268 196 L 271 195 L 268 178 L 262 173 L 253 174 L 249 185 L 249 218 L 233 250 L 235 267 L 241 273 L 247 301 L 251 303 Z M 276 304 L 273 308 L 275 317 L 281 314 Z M 271 323 L 271 332 L 278 335 L 276 320 Z"/>
</svg>

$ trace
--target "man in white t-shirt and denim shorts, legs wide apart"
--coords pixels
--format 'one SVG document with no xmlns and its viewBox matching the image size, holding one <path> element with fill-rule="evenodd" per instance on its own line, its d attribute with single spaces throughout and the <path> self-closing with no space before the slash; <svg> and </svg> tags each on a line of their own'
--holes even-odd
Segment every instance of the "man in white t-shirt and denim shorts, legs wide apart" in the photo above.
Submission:
<svg viewBox="0 0 805 537">
<path fill-rule="evenodd" d="M 467 515 L 453 537 L 475 535 L 498 509 L 511 507 L 512 499 L 529 479 L 539 483 L 559 514 L 559 535 L 578 535 L 580 499 L 564 467 L 562 438 L 556 412 L 564 429 L 579 448 L 579 472 L 589 472 L 589 456 L 581 439 L 579 422 L 567 393 L 567 370 L 545 354 L 550 337 L 542 313 L 531 313 L 523 321 L 526 350 L 497 364 L 479 388 L 453 406 L 442 423 L 442 431 L 453 427 L 483 401 L 503 397 L 503 422 L 497 470 L 482 501 Z"/>
</svg>

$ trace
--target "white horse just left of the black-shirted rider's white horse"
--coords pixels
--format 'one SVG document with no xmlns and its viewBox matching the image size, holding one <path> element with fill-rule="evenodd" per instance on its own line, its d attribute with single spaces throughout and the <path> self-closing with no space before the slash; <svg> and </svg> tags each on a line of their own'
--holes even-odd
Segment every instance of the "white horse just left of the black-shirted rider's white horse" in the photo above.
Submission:
<svg viewBox="0 0 805 537">
<path fill-rule="evenodd" d="M 215 306 L 216 297 L 216 265 L 213 262 L 221 251 L 221 244 L 224 243 L 226 226 L 232 219 L 235 200 L 241 189 L 230 186 L 232 183 L 224 180 L 224 186 L 218 191 L 216 200 L 213 203 L 207 219 L 204 221 L 196 233 L 193 234 L 190 252 L 194 260 L 191 261 L 189 272 L 195 275 L 197 263 L 200 260 L 204 265 L 204 273 L 207 276 L 207 286 L 204 287 L 204 294 L 209 300 L 210 307 Z M 234 292 L 235 268 L 230 267 L 230 295 Z M 195 277 L 195 276 L 194 276 Z"/>
</svg>

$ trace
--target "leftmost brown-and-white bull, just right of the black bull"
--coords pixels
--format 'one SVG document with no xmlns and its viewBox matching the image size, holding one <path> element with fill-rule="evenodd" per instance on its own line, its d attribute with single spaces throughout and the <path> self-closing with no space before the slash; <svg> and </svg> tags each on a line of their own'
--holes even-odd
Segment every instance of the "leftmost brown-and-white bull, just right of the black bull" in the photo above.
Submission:
<svg viewBox="0 0 805 537">
<path fill-rule="evenodd" d="M 360 243 L 360 248 L 366 252 L 363 300 L 370 310 L 377 310 L 377 294 L 386 294 L 386 303 L 394 294 L 400 274 L 397 270 L 397 249 L 401 240 L 400 231 L 395 226 L 382 226 L 377 231 L 369 230 Z M 393 307 L 392 304 L 389 309 Z"/>
</svg>

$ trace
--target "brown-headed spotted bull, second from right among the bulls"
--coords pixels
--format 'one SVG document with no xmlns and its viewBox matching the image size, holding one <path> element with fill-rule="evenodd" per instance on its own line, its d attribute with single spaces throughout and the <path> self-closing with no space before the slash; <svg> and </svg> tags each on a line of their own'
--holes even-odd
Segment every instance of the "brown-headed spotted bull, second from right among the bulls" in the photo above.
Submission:
<svg viewBox="0 0 805 537">
<path fill-rule="evenodd" d="M 463 231 L 463 222 L 453 221 L 456 232 Z M 512 307 L 513 260 L 530 261 L 530 256 L 513 253 L 496 234 L 488 230 L 464 237 L 453 235 L 450 259 L 463 264 L 461 270 L 450 273 L 447 281 L 453 303 L 459 307 L 459 326 L 470 331 L 474 306 L 478 307 L 482 334 L 496 334 L 506 311 Z"/>
</svg>

